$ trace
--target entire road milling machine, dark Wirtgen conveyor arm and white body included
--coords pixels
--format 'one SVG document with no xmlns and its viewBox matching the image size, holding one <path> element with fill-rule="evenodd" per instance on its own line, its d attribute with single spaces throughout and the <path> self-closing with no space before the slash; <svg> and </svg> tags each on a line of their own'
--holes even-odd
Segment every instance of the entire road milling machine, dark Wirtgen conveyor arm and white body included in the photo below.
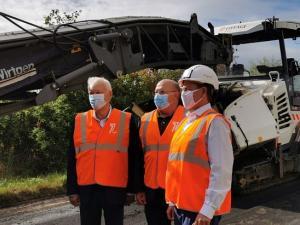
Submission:
<svg viewBox="0 0 300 225">
<path fill-rule="evenodd" d="M 190 21 L 120 17 L 45 28 L 0 17 L 20 29 L 0 34 L 0 115 L 81 89 L 89 76 L 205 64 L 219 75 L 215 105 L 232 127 L 234 189 L 249 192 L 300 172 L 300 69 L 285 50 L 300 23 L 272 18 L 205 29 L 193 14 Z M 281 66 L 259 65 L 256 75 L 232 65 L 233 46 L 271 40 Z"/>
</svg>

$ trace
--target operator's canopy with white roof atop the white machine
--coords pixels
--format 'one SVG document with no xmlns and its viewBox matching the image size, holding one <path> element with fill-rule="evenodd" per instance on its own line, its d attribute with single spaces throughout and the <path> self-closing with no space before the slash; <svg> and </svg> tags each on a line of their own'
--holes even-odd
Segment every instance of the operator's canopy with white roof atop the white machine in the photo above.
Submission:
<svg viewBox="0 0 300 225">
<path fill-rule="evenodd" d="M 298 47 L 300 22 L 280 21 L 278 18 L 273 17 L 262 21 L 216 27 L 215 34 L 232 35 L 234 49 L 241 50 L 242 53 L 243 50 L 249 49 L 249 47 L 257 49 L 256 59 L 262 59 L 259 52 L 272 51 L 274 55 L 277 53 L 280 60 L 276 61 L 275 59 L 275 63 L 271 63 L 272 65 L 270 63 L 256 65 L 255 71 L 247 70 L 243 64 L 235 62 L 230 69 L 227 69 L 228 73 L 225 79 L 235 77 L 232 78 L 234 80 L 237 77 L 243 77 L 243 79 L 266 80 L 269 79 L 270 72 L 277 71 L 280 78 L 286 82 L 291 109 L 300 111 L 300 68 L 297 61 L 297 59 L 300 59 L 300 55 L 295 55 L 295 51 L 288 52 L 285 47 L 286 43 L 289 49 Z M 244 46 L 247 45 L 248 48 L 245 48 Z M 247 54 L 248 52 L 244 52 L 244 56 Z M 238 61 L 240 57 L 243 57 L 240 53 L 234 55 L 235 61 Z M 264 60 L 262 59 L 262 61 Z"/>
</svg>

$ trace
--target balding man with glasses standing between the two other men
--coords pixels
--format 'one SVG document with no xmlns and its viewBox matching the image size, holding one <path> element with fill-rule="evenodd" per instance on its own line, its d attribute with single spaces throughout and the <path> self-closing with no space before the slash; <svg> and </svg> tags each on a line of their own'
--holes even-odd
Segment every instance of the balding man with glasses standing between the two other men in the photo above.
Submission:
<svg viewBox="0 0 300 225">
<path fill-rule="evenodd" d="M 165 176 L 170 142 L 184 108 L 178 105 L 180 89 L 177 82 L 161 80 L 155 88 L 156 109 L 143 115 L 140 138 L 144 150 L 145 193 L 137 194 L 137 202 L 145 204 L 148 225 L 169 225 L 165 202 Z"/>
</svg>

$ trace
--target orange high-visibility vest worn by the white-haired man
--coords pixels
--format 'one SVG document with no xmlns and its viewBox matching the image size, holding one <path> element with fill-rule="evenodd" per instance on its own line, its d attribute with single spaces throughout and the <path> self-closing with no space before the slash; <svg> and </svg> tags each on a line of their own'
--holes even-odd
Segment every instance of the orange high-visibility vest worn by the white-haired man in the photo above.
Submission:
<svg viewBox="0 0 300 225">
<path fill-rule="evenodd" d="M 131 114 L 113 109 L 102 128 L 94 110 L 75 118 L 77 183 L 126 187 Z"/>
</svg>

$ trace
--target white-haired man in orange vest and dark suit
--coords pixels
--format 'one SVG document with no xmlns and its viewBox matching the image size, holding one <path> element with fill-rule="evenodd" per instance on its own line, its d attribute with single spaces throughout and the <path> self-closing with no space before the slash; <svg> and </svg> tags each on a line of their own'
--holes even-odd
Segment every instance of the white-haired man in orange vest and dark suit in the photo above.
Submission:
<svg viewBox="0 0 300 225">
<path fill-rule="evenodd" d="M 112 108 L 108 80 L 88 79 L 92 109 L 78 113 L 68 153 L 67 194 L 80 206 L 82 225 L 122 225 L 126 192 L 143 188 L 143 154 L 137 123 Z"/>
</svg>

